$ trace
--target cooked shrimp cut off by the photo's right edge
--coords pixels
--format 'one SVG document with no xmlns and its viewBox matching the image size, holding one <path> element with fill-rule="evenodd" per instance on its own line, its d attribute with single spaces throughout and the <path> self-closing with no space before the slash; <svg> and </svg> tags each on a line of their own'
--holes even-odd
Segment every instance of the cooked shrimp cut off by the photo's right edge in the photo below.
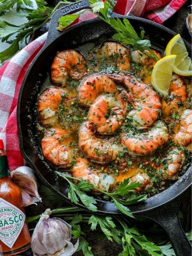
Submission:
<svg viewBox="0 0 192 256">
<path fill-rule="evenodd" d="M 192 119 L 192 113 L 190 109 L 186 109 L 182 116 L 181 120 L 179 122 L 179 130 L 177 130 L 177 126 L 175 127 L 174 131 L 176 134 L 173 137 L 173 141 L 176 144 L 187 146 L 191 143 L 192 140 L 192 124 L 191 124 L 191 119 Z"/>
</svg>

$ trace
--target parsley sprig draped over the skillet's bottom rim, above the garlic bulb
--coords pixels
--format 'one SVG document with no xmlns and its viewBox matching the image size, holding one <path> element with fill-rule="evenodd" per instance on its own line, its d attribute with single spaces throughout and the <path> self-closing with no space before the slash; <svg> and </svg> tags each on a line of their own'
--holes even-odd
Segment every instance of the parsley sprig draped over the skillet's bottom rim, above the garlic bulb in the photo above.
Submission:
<svg viewBox="0 0 192 256">
<path fill-rule="evenodd" d="M 127 207 L 127 205 L 143 202 L 147 198 L 146 194 L 139 195 L 139 196 L 137 196 L 136 194 L 133 194 L 133 192 L 131 190 L 135 190 L 142 184 L 139 182 L 132 182 L 131 184 L 128 184 L 129 179 L 125 179 L 123 182 L 121 182 L 118 189 L 114 193 L 109 193 L 107 191 L 103 191 L 103 190 L 95 187 L 94 185 L 92 185 L 89 182 L 86 182 L 85 180 L 75 178 L 72 176 L 68 176 L 68 175 L 64 175 L 63 173 L 60 173 L 58 171 L 55 171 L 55 173 L 58 176 L 60 176 L 61 178 L 65 179 L 69 183 L 70 188 L 68 191 L 68 198 L 71 200 L 71 202 L 74 202 L 77 204 L 80 199 L 81 202 L 89 210 L 91 210 L 93 212 L 97 211 L 97 206 L 95 205 L 96 201 L 93 197 L 84 193 L 85 191 L 91 191 L 91 189 L 93 189 L 93 188 L 100 191 L 103 194 L 106 194 L 108 197 L 113 199 L 113 202 L 114 202 L 115 206 L 119 209 L 119 211 L 121 211 L 122 213 L 124 213 L 125 215 L 127 215 L 131 218 L 134 218 L 134 216 L 131 213 L 130 209 Z M 79 181 L 79 183 L 74 184 L 73 182 L 70 181 L 70 179 L 77 180 L 77 181 Z M 128 195 L 128 198 L 126 200 L 122 200 L 122 199 L 119 199 L 118 197 L 116 197 L 116 196 L 121 196 L 121 195 L 123 195 L 123 196 Z"/>
</svg>

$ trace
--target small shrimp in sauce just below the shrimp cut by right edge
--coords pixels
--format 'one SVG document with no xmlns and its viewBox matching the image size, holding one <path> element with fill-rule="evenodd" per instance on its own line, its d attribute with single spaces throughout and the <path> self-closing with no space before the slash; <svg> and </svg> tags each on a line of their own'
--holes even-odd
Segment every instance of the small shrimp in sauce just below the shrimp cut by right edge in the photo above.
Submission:
<svg viewBox="0 0 192 256">
<path fill-rule="evenodd" d="M 158 168 L 158 174 L 163 177 L 163 179 L 170 178 L 178 173 L 181 167 L 181 151 L 178 149 L 173 149 L 169 155 L 163 159 L 163 164 Z"/>
</svg>

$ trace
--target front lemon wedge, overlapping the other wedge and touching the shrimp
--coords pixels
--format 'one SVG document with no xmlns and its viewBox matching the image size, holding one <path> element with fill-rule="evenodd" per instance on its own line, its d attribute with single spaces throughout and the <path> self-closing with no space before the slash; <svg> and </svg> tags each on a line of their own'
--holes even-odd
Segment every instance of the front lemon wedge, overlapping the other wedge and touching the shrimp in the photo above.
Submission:
<svg viewBox="0 0 192 256">
<path fill-rule="evenodd" d="M 175 59 L 176 55 L 166 56 L 158 60 L 153 67 L 151 82 L 153 88 L 159 92 L 160 95 L 167 96 L 169 94 Z"/>
</svg>

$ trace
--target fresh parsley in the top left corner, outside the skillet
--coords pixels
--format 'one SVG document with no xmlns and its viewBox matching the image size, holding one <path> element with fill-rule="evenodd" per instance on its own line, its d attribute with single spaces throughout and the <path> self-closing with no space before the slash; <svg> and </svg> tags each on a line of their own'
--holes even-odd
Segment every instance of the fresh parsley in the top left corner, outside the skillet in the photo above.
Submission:
<svg viewBox="0 0 192 256">
<path fill-rule="evenodd" d="M 28 22 L 19 26 L 0 20 L 0 39 L 2 42 L 5 41 L 10 44 L 10 47 L 0 52 L 1 62 L 11 58 L 21 50 L 23 43 L 28 44 L 29 36 L 50 20 L 59 5 L 72 3 L 63 0 L 52 9 L 46 6 L 47 3 L 44 0 L 35 1 L 37 3 L 37 9 L 28 8 L 28 6 L 33 6 L 31 0 L 0 0 L 0 16 L 4 15 L 6 11 L 13 8 L 13 5 L 16 4 L 16 15 L 26 16 L 28 19 Z M 10 40 L 12 35 L 16 35 L 14 40 Z"/>
</svg>

